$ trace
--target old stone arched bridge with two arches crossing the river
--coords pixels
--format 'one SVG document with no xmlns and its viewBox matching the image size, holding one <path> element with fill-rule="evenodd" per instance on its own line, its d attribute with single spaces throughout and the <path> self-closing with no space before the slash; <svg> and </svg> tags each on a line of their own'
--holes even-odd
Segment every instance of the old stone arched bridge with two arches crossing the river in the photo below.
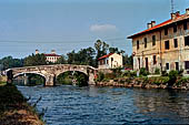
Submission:
<svg viewBox="0 0 189 125">
<path fill-rule="evenodd" d="M 9 69 L 7 71 L 8 83 L 12 83 L 12 80 L 18 75 L 26 75 L 27 73 L 38 74 L 44 77 L 47 86 L 56 84 L 56 77 L 67 71 L 78 71 L 86 74 L 89 77 L 89 84 L 94 84 L 93 79 L 97 74 L 97 69 L 89 65 L 73 65 L 73 64 L 54 64 L 54 65 L 38 65 Z"/>
</svg>

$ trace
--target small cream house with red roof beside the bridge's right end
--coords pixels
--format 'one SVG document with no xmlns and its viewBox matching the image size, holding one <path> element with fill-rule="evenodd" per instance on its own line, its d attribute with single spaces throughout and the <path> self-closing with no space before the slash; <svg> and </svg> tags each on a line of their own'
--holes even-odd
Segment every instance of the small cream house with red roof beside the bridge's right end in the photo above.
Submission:
<svg viewBox="0 0 189 125">
<path fill-rule="evenodd" d="M 109 53 L 98 59 L 99 69 L 115 69 L 122 67 L 122 55 L 117 53 Z"/>
</svg>

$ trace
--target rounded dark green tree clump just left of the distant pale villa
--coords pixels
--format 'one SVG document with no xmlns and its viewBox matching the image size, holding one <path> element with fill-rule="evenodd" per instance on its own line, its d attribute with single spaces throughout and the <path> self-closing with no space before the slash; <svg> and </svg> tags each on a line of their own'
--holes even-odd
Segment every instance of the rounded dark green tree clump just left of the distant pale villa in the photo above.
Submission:
<svg viewBox="0 0 189 125">
<path fill-rule="evenodd" d="M 32 54 L 24 59 L 24 66 L 32 66 L 32 65 L 46 65 L 46 56 L 44 54 Z"/>
</svg>

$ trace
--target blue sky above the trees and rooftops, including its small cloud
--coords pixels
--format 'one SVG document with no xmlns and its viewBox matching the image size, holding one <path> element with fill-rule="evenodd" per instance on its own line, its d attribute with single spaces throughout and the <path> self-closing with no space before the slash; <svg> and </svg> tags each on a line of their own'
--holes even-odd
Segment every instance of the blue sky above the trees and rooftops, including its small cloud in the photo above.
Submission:
<svg viewBox="0 0 189 125">
<path fill-rule="evenodd" d="M 24 58 L 38 49 L 67 54 L 100 39 L 132 53 L 127 37 L 147 23 L 170 19 L 171 0 L 0 0 L 0 58 Z M 175 0 L 185 13 L 189 0 Z"/>
</svg>

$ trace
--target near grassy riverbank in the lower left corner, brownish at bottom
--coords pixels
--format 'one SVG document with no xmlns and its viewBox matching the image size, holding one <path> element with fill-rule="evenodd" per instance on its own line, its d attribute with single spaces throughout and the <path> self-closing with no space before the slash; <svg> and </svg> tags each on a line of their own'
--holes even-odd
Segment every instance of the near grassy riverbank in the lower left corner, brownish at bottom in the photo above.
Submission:
<svg viewBox="0 0 189 125">
<path fill-rule="evenodd" d="M 0 86 L 0 125 L 43 125 L 14 85 Z"/>
</svg>

